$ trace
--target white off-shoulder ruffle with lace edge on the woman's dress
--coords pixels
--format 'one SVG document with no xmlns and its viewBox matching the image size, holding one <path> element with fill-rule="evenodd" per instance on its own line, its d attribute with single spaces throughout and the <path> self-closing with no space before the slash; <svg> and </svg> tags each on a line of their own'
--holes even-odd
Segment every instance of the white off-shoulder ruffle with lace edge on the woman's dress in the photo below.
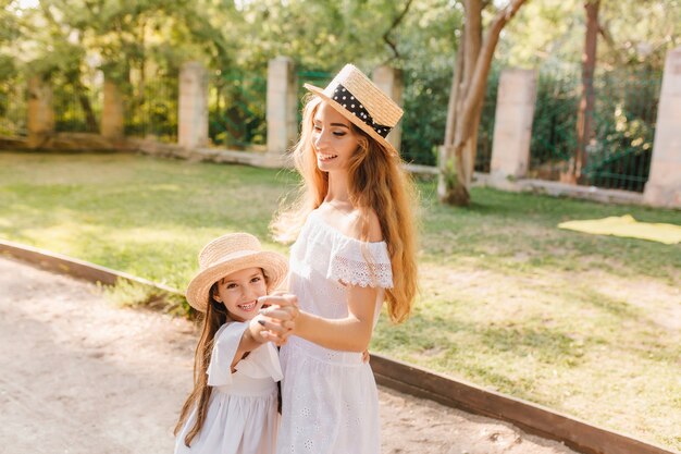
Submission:
<svg viewBox="0 0 681 454">
<path fill-rule="evenodd" d="M 308 236 L 309 249 L 327 253 L 311 255 L 300 262 L 309 262 L 326 279 L 362 287 L 393 287 L 393 267 L 385 242 L 368 243 L 346 236 L 329 225 L 315 211 L 310 213 L 300 234 Z M 311 247 L 313 244 L 318 247 Z M 305 250 L 297 253 L 306 255 Z M 292 269 L 295 262 L 292 261 Z"/>
</svg>

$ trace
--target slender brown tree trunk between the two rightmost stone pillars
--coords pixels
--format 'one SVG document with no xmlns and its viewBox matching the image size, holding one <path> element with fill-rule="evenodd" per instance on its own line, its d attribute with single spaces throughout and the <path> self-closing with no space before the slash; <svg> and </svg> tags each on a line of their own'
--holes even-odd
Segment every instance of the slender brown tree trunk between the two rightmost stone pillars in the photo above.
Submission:
<svg viewBox="0 0 681 454">
<path fill-rule="evenodd" d="M 594 118 L 594 72 L 596 69 L 596 45 L 598 41 L 598 8 L 600 0 L 589 0 L 584 3 L 586 12 L 586 35 L 582 56 L 582 95 L 577 112 L 577 150 L 570 169 L 569 181 L 583 181 L 586 167 L 586 147 L 593 135 Z"/>
</svg>

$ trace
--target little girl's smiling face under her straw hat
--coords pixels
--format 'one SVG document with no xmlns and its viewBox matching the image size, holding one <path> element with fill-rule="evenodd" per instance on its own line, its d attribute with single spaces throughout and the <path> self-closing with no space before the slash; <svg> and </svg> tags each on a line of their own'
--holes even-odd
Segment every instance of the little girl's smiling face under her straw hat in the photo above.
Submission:
<svg viewBox="0 0 681 454">
<path fill-rule="evenodd" d="M 222 278 L 213 297 L 224 304 L 230 317 L 236 321 L 250 320 L 258 315 L 260 296 L 268 294 L 261 268 L 246 268 Z"/>
</svg>

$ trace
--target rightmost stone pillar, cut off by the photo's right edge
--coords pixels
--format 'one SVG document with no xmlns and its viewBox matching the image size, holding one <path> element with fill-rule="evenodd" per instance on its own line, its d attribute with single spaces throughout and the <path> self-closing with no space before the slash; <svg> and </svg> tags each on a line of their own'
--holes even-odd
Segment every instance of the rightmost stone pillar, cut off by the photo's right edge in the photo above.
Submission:
<svg viewBox="0 0 681 454">
<path fill-rule="evenodd" d="M 669 51 L 657 109 L 657 126 L 643 200 L 681 208 L 681 47 Z"/>
</svg>

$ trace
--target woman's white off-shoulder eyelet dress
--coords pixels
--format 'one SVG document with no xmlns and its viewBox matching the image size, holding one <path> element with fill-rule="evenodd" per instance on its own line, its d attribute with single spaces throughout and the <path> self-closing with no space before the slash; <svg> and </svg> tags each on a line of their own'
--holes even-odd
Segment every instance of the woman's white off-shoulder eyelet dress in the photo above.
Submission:
<svg viewBox="0 0 681 454">
<path fill-rule="evenodd" d="M 312 211 L 290 249 L 289 287 L 302 310 L 324 317 L 348 315 L 347 284 L 393 286 L 385 242 L 348 237 Z M 375 321 L 374 321 L 375 326 Z M 379 454 L 381 424 L 376 384 L 361 353 L 339 352 L 292 336 L 280 352 L 282 426 L 277 454 Z"/>
</svg>

